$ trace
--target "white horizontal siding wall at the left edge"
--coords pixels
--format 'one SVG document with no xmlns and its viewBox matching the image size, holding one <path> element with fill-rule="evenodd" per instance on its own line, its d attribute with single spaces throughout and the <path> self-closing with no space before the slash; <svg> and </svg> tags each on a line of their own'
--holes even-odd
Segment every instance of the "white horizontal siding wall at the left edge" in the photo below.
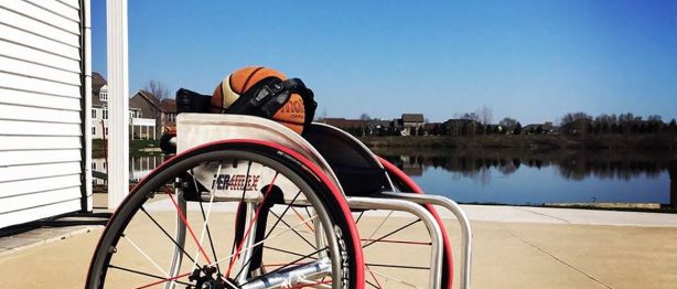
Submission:
<svg viewBox="0 0 677 289">
<path fill-rule="evenodd" d="M 83 208 L 79 9 L 0 1 L 0 227 Z"/>
</svg>

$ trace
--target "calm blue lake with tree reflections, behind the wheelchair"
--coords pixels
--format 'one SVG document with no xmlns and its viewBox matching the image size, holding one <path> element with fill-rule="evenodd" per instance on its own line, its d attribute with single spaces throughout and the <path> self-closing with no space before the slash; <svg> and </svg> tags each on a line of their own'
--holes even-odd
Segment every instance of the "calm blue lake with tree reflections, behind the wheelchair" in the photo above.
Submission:
<svg viewBox="0 0 677 289">
<path fill-rule="evenodd" d="M 390 149 L 374 151 L 398 165 L 427 193 L 460 203 L 677 203 L 668 167 L 674 152 Z M 139 181 L 163 157 L 130 159 Z M 105 171 L 104 159 L 93 169 Z M 96 184 L 104 181 L 97 180 Z"/>
</svg>

